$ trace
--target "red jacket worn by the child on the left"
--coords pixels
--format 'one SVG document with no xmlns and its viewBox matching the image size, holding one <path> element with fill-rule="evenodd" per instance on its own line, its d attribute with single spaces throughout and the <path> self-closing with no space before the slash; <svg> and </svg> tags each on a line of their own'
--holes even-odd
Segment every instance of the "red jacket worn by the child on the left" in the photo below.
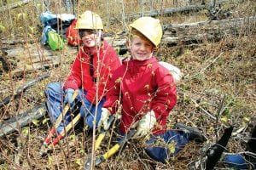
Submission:
<svg viewBox="0 0 256 170">
<path fill-rule="evenodd" d="M 99 53 L 97 53 L 99 52 Z M 90 49 L 82 47 L 79 49 L 79 54 L 73 62 L 71 73 L 64 83 L 64 89 L 67 88 L 84 88 L 87 91 L 86 99 L 91 103 L 96 103 L 96 77 L 98 75 L 99 88 L 98 88 L 98 101 L 105 95 L 106 84 L 109 77 L 112 76 L 121 64 L 118 55 L 114 49 L 103 41 L 102 47 L 95 50 L 93 53 L 93 71 L 90 71 Z M 97 68 L 97 65 L 99 67 Z M 91 77 L 91 73 L 93 76 Z"/>
</svg>

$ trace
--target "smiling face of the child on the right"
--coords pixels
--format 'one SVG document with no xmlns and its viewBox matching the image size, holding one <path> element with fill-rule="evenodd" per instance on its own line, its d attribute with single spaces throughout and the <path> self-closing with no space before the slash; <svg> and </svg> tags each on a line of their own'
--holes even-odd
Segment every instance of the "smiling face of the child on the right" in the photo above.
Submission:
<svg viewBox="0 0 256 170">
<path fill-rule="evenodd" d="M 150 59 L 154 50 L 154 44 L 143 37 L 132 37 L 131 56 L 140 61 Z"/>
</svg>

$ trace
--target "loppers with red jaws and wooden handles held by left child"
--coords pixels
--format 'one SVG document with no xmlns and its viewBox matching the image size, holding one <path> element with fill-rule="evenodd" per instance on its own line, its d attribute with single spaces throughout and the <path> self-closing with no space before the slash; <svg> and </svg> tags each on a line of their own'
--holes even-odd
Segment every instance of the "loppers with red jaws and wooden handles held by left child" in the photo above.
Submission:
<svg viewBox="0 0 256 170">
<path fill-rule="evenodd" d="M 76 90 L 73 94 L 73 100 L 78 96 L 79 91 Z M 70 122 L 67 127 L 64 127 L 63 131 L 61 133 L 56 133 L 57 127 L 60 126 L 61 121 L 63 120 L 63 117 L 67 114 L 67 111 L 69 110 L 70 105 L 65 105 L 63 111 L 61 112 L 61 115 L 57 118 L 56 122 L 54 123 L 54 127 L 52 127 L 49 130 L 48 135 L 44 139 L 44 143 L 41 145 L 40 148 L 40 155 L 45 156 L 47 154 L 48 150 L 52 150 L 55 144 L 58 144 L 61 139 L 64 138 L 66 133 L 69 132 L 69 130 L 79 122 L 79 119 L 81 118 L 81 114 L 79 113 L 77 116 L 75 116 Z M 55 137 L 55 139 L 53 139 Z"/>
</svg>

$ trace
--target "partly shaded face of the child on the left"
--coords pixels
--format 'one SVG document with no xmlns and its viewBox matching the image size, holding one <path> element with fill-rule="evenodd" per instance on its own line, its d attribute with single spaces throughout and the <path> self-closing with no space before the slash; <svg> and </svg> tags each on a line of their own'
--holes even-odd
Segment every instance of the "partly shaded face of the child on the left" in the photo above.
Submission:
<svg viewBox="0 0 256 170">
<path fill-rule="evenodd" d="M 98 44 L 101 40 L 100 31 L 88 30 L 88 31 L 79 32 L 79 34 L 84 45 L 88 48 L 96 47 L 96 44 Z"/>
</svg>

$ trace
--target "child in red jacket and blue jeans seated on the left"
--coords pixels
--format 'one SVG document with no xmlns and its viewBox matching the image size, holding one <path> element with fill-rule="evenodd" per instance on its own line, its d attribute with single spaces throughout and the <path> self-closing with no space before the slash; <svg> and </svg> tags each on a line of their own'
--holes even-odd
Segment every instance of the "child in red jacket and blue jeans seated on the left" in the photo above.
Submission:
<svg viewBox="0 0 256 170">
<path fill-rule="evenodd" d="M 72 108 L 79 101 L 82 104 L 80 114 L 84 116 L 84 122 L 92 128 L 94 122 L 97 125 L 101 117 L 109 78 L 121 63 L 115 50 L 102 37 L 103 25 L 98 14 L 85 11 L 79 16 L 76 29 L 79 30 L 83 46 L 79 48 L 67 80 L 64 83 L 52 82 L 46 88 L 46 108 L 51 122 L 54 123 L 61 116 L 63 105 L 69 104 Z M 76 102 L 73 101 L 75 90 L 79 91 Z M 64 127 L 69 122 L 71 118 L 67 114 L 64 122 L 56 128 L 57 133 L 64 132 Z"/>
</svg>

